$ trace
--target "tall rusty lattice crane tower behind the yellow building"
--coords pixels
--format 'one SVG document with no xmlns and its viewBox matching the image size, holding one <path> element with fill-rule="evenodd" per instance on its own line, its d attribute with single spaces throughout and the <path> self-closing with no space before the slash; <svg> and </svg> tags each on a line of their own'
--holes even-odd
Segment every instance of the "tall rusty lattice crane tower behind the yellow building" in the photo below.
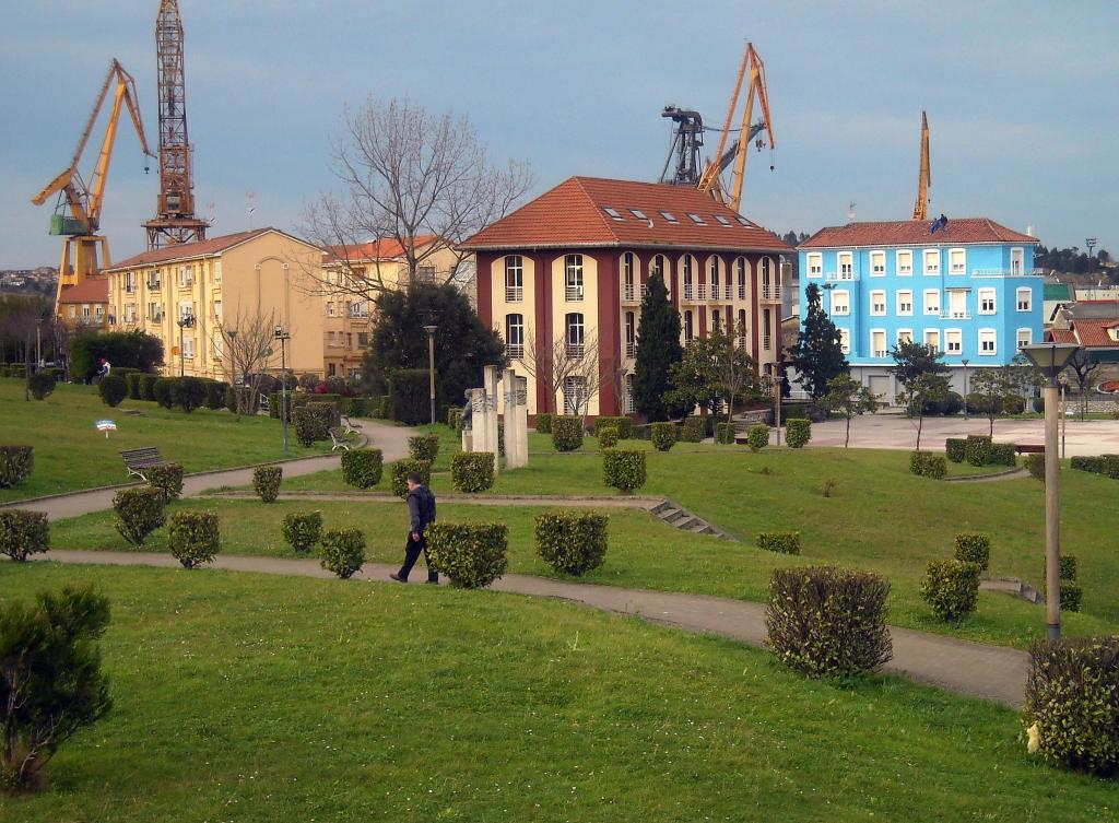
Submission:
<svg viewBox="0 0 1119 823">
<path fill-rule="evenodd" d="M 159 77 L 159 200 L 144 223 L 148 247 L 206 240 L 209 223 L 195 216 L 195 184 L 187 137 L 187 88 L 179 0 L 160 0 L 156 18 Z"/>
</svg>

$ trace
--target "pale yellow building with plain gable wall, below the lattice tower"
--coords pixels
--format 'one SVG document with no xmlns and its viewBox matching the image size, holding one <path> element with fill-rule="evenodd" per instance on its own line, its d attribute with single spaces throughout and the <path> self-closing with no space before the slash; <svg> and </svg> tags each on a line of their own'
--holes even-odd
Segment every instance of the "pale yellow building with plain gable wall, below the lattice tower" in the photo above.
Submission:
<svg viewBox="0 0 1119 823">
<path fill-rule="evenodd" d="M 291 335 L 289 371 L 321 375 L 321 263 L 317 246 L 275 228 L 143 252 L 105 271 L 109 328 L 160 338 L 168 374 L 231 381 L 226 335 L 238 326 L 281 325 Z M 279 372 L 280 359 L 276 345 L 264 370 Z"/>
</svg>

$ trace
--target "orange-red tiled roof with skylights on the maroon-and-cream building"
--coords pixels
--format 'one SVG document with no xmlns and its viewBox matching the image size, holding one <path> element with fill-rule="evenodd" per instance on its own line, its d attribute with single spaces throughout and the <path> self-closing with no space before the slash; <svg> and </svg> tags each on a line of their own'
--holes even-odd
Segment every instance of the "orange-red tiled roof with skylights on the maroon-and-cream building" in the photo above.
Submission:
<svg viewBox="0 0 1119 823">
<path fill-rule="evenodd" d="M 604 209 L 621 216 L 614 219 Z M 638 217 L 631 209 L 641 212 Z M 671 214 L 669 222 L 661 212 Z M 703 218 L 697 224 L 688 213 Z M 727 224 L 715 219 L 723 217 Z M 572 177 L 487 226 L 462 249 L 568 246 L 690 246 L 791 251 L 772 232 L 746 221 L 698 189 L 659 183 Z"/>
</svg>

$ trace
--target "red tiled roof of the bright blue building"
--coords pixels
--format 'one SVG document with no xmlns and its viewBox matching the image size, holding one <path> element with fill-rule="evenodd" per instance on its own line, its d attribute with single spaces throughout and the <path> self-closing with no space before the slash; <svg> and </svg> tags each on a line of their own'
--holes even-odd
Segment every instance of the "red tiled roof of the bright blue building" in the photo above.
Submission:
<svg viewBox="0 0 1119 823">
<path fill-rule="evenodd" d="M 950 217 L 948 226 L 932 234 L 932 221 L 883 221 L 848 223 L 821 228 L 798 249 L 834 249 L 867 245 L 929 245 L 932 243 L 1038 243 L 987 217 Z"/>
</svg>

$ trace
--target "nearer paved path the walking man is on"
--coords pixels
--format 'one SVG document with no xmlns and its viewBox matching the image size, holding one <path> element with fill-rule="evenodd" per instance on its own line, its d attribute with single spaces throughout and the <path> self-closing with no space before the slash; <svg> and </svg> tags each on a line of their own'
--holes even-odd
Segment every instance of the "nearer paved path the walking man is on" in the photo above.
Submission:
<svg viewBox="0 0 1119 823">
<path fill-rule="evenodd" d="M 63 563 L 178 567 L 178 561 L 169 554 L 141 552 L 51 550 L 41 559 Z M 213 568 L 294 577 L 333 577 L 321 569 L 317 560 L 310 558 L 248 558 L 223 554 L 218 555 Z M 387 582 L 392 571 L 396 571 L 396 567 L 366 563 L 356 577 Z M 417 580 L 422 578 L 423 571 L 419 570 Z M 765 607 L 761 604 L 700 595 L 573 583 L 526 574 L 506 574 L 491 588 L 498 591 L 582 602 L 606 611 L 637 615 L 645 620 L 687 632 L 730 637 L 752 646 L 762 646 L 765 639 Z M 1015 709 L 1022 705 L 1028 664 L 1025 652 L 895 627 L 891 627 L 890 633 L 893 638 L 894 658 L 886 665 L 887 671 Z"/>
</svg>

